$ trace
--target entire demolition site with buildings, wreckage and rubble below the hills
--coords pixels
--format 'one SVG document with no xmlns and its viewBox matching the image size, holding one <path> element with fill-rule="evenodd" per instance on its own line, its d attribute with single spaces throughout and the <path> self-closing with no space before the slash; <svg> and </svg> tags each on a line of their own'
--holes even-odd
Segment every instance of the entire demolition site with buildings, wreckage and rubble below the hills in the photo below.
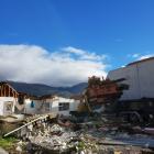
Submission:
<svg viewBox="0 0 154 154">
<path fill-rule="evenodd" d="M 154 57 L 88 78 L 78 95 L 0 82 L 0 154 L 154 153 Z"/>
</svg>

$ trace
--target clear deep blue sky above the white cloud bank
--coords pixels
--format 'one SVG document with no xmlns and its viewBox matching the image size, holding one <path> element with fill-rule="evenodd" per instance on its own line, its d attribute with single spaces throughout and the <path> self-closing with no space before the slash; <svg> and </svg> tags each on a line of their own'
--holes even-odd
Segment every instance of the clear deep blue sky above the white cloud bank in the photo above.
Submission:
<svg viewBox="0 0 154 154">
<path fill-rule="evenodd" d="M 107 55 L 108 72 L 154 54 L 153 8 L 153 0 L 1 0 L 0 44 L 73 46 Z"/>
</svg>

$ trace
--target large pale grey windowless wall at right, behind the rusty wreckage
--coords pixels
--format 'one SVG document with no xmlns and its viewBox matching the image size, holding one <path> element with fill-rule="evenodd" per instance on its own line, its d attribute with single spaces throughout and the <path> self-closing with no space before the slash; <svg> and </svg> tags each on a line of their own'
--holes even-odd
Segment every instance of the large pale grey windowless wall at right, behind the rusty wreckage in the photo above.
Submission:
<svg viewBox="0 0 154 154">
<path fill-rule="evenodd" d="M 125 78 L 129 90 L 124 90 L 121 100 L 154 98 L 154 59 L 132 64 L 108 74 L 110 79 Z"/>
</svg>

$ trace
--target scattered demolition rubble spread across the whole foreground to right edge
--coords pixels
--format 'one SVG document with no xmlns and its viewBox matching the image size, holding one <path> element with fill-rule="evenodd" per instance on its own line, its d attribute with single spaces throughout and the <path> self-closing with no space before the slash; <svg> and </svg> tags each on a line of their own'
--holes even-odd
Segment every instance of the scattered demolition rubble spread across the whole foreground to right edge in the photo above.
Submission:
<svg viewBox="0 0 154 154">
<path fill-rule="evenodd" d="M 152 153 L 154 138 L 125 131 L 120 119 L 89 117 L 84 122 L 50 116 L 28 118 L 24 127 L 12 131 L 21 141 L 18 153 L 142 154 Z M 140 130 L 140 127 L 132 127 Z M 147 129 L 145 129 L 147 131 Z M 152 131 L 150 129 L 150 131 Z M 11 133 L 9 133 L 10 135 Z"/>
</svg>

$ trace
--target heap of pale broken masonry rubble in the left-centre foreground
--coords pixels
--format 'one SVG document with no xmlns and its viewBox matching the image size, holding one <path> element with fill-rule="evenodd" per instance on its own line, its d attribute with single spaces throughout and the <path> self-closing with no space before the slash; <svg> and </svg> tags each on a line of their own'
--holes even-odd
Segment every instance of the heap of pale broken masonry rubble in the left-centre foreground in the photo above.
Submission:
<svg viewBox="0 0 154 154">
<path fill-rule="evenodd" d="M 79 132 L 74 132 L 69 128 L 62 128 L 57 123 L 40 121 L 40 129 L 29 125 L 25 139 L 31 143 L 31 151 L 50 151 L 54 153 L 81 152 L 84 150 L 96 150 L 96 144 L 85 141 Z M 37 123 L 37 124 L 38 124 Z M 24 139 L 24 140 L 25 140 Z M 37 148 L 38 147 L 38 148 Z M 89 153 L 89 152 L 88 152 Z"/>
</svg>

